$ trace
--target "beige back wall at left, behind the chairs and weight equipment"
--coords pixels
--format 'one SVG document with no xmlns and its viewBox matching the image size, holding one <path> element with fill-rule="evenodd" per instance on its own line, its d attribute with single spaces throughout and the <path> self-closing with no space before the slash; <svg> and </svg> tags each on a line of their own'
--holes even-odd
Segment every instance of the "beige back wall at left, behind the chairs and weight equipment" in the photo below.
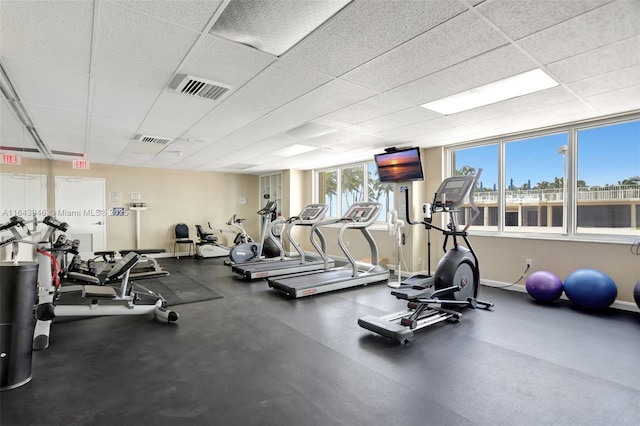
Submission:
<svg viewBox="0 0 640 426">
<path fill-rule="evenodd" d="M 48 167 L 43 166 L 46 163 Z M 225 224 L 234 213 L 247 219 L 245 227 L 254 238 L 259 235 L 257 176 L 101 164 L 91 164 L 90 170 L 74 170 L 71 162 L 28 159 L 23 159 L 21 166 L 4 166 L 0 172 L 48 174 L 49 208 L 54 210 L 55 176 L 104 178 L 108 209 L 128 207 L 130 194 L 140 194 L 140 201 L 148 205 L 148 210 L 141 212 L 140 239 L 143 248 L 164 248 L 173 252 L 174 227 L 177 223 L 189 225 L 190 234 L 196 239 L 196 224 L 207 228 L 207 222 L 211 222 L 213 228 L 228 229 Z M 110 202 L 110 194 L 114 192 L 120 193 L 120 202 Z M 247 199 L 246 204 L 240 203 L 241 197 Z M 229 242 L 233 239 L 230 233 L 220 236 Z M 106 249 L 135 248 L 135 243 L 133 211 L 124 217 L 107 217 Z"/>
</svg>

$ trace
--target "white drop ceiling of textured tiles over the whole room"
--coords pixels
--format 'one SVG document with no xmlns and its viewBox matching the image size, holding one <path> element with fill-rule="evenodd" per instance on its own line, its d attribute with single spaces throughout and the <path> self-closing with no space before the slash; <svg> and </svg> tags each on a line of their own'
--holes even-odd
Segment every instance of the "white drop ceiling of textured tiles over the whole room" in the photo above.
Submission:
<svg viewBox="0 0 640 426">
<path fill-rule="evenodd" d="M 264 174 L 640 110 L 637 0 L 302 3 L 2 0 L 2 86 L 44 148 L 6 100 L 0 145 Z M 559 86 L 448 116 L 420 107 L 535 68 Z M 185 77 L 229 90 L 183 94 Z"/>
</svg>

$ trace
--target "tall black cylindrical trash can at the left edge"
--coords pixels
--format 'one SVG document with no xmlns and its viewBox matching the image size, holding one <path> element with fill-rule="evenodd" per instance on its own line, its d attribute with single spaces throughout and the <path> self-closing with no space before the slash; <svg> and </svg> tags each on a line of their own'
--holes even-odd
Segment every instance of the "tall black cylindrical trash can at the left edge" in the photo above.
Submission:
<svg viewBox="0 0 640 426">
<path fill-rule="evenodd" d="M 0 262 L 0 391 L 31 380 L 36 262 Z"/>
</svg>

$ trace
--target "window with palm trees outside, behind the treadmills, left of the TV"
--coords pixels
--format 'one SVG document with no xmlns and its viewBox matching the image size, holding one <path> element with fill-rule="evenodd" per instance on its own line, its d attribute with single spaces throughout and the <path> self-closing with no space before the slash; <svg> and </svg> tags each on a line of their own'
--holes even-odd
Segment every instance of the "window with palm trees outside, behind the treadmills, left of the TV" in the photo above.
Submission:
<svg viewBox="0 0 640 426">
<path fill-rule="evenodd" d="M 316 177 L 318 200 L 329 206 L 328 217 L 343 216 L 353 203 L 362 201 L 382 204 L 378 221 L 385 221 L 393 209 L 394 184 L 380 183 L 374 162 L 320 170 Z"/>
</svg>

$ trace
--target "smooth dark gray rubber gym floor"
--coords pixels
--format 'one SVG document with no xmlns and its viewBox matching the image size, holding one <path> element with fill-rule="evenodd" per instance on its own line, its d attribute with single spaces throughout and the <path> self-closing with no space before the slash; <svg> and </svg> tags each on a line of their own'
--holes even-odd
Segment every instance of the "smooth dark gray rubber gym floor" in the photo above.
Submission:
<svg viewBox="0 0 640 426">
<path fill-rule="evenodd" d="M 399 345 L 357 325 L 403 308 L 384 284 L 289 300 L 222 259 L 161 263 L 224 298 L 55 324 L 2 426 L 640 424 L 638 314 L 483 287 L 493 311 Z"/>
</svg>

